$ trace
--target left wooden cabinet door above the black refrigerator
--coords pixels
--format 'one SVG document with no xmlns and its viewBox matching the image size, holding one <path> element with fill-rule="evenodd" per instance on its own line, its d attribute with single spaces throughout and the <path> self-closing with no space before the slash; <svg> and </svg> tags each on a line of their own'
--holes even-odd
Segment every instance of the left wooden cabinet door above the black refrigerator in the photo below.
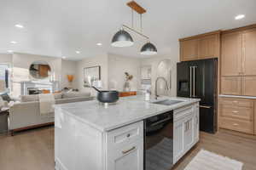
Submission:
<svg viewBox="0 0 256 170">
<path fill-rule="evenodd" d="M 180 55 L 182 61 L 198 59 L 198 39 L 180 42 Z"/>
</svg>

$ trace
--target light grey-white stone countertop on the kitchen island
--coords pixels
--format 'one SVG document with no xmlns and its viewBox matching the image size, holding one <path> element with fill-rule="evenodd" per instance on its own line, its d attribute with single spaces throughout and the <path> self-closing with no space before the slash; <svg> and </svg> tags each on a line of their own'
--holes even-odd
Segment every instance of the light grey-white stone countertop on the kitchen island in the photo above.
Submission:
<svg viewBox="0 0 256 170">
<path fill-rule="evenodd" d="M 177 97 L 163 97 L 158 100 L 161 99 L 182 100 L 183 102 L 175 105 L 157 105 L 145 101 L 143 95 L 137 95 L 120 98 L 114 105 L 102 105 L 97 100 L 55 105 L 55 113 L 68 114 L 91 127 L 106 132 L 200 101 L 200 99 Z"/>
</svg>

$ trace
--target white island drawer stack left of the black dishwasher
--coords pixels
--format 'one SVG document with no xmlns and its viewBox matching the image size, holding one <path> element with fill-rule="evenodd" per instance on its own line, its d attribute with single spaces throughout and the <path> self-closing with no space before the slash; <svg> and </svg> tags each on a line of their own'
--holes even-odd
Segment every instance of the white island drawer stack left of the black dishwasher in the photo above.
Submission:
<svg viewBox="0 0 256 170">
<path fill-rule="evenodd" d="M 143 170 L 143 122 L 107 135 L 107 170 Z"/>
</svg>

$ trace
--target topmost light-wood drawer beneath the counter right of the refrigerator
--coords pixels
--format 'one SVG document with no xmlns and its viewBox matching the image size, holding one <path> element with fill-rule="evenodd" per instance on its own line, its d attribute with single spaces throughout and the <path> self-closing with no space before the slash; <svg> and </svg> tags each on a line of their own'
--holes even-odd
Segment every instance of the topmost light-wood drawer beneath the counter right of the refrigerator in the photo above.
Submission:
<svg viewBox="0 0 256 170">
<path fill-rule="evenodd" d="M 221 98 L 220 104 L 253 108 L 253 100 L 250 99 Z"/>
</svg>

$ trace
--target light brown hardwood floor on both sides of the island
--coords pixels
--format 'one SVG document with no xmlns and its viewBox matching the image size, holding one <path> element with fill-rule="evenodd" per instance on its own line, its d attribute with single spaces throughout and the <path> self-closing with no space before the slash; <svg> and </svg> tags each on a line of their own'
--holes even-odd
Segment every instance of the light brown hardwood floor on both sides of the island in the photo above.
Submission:
<svg viewBox="0 0 256 170">
<path fill-rule="evenodd" d="M 256 140 L 224 131 L 201 133 L 201 141 L 173 168 L 183 170 L 199 150 L 209 150 L 242 161 L 243 170 L 256 170 Z M 1 170 L 54 170 L 54 127 L 0 136 Z"/>
</svg>

